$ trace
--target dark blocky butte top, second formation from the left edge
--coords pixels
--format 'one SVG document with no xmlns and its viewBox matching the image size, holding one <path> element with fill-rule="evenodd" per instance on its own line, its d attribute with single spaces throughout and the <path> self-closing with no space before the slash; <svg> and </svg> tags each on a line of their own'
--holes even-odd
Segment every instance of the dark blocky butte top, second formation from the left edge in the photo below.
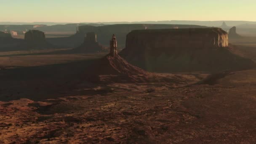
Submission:
<svg viewBox="0 0 256 144">
<path fill-rule="evenodd" d="M 45 33 L 39 30 L 29 30 L 25 33 L 24 39 L 28 43 L 46 43 Z"/>
</svg>

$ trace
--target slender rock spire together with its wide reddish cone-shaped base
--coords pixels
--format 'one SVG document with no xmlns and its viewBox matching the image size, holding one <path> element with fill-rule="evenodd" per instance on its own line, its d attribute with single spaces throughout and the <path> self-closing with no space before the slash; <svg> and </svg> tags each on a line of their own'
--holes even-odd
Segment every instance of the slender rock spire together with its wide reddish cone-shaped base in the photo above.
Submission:
<svg viewBox="0 0 256 144">
<path fill-rule="evenodd" d="M 117 40 L 112 35 L 109 54 L 88 68 L 86 79 L 93 83 L 147 82 L 149 72 L 129 64 L 117 54 L 116 48 Z"/>
</svg>

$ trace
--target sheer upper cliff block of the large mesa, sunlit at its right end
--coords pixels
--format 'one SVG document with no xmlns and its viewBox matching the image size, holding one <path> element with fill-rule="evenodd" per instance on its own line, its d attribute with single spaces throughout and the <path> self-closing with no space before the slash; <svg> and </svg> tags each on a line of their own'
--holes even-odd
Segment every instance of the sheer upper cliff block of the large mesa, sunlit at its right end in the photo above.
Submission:
<svg viewBox="0 0 256 144">
<path fill-rule="evenodd" d="M 228 46 L 228 34 L 221 28 L 134 30 L 126 37 L 126 49 L 198 49 Z"/>
</svg>

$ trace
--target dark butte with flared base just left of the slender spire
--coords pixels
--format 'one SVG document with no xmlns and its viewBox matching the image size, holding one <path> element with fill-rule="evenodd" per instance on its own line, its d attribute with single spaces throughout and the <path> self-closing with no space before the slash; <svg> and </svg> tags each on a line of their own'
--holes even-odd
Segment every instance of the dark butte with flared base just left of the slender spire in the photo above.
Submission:
<svg viewBox="0 0 256 144">
<path fill-rule="evenodd" d="M 88 32 L 85 35 L 84 43 L 72 50 L 79 53 L 99 53 L 107 51 L 107 48 L 97 42 L 97 35 L 94 32 Z"/>
</svg>

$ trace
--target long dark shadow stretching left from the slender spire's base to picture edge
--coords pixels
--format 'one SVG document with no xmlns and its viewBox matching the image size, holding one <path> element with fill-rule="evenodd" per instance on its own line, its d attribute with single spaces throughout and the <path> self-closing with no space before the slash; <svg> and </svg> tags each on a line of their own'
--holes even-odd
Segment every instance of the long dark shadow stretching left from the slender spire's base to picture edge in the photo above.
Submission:
<svg viewBox="0 0 256 144">
<path fill-rule="evenodd" d="M 40 101 L 83 93 L 77 91 L 77 85 L 86 83 L 83 73 L 96 60 L 0 70 L 0 101 Z"/>
</svg>

